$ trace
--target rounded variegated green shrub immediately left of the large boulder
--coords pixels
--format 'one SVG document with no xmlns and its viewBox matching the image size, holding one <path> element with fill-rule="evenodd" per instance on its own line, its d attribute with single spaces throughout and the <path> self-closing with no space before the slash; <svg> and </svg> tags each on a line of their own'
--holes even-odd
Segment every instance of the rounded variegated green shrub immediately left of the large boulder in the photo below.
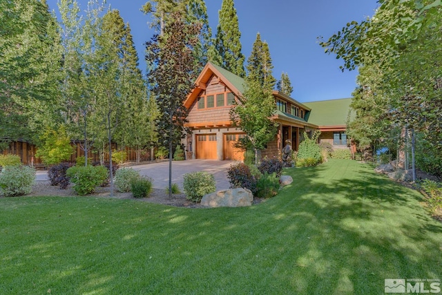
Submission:
<svg viewBox="0 0 442 295">
<path fill-rule="evenodd" d="M 184 174 L 183 187 L 187 200 L 193 202 L 201 202 L 202 196 L 216 191 L 215 178 L 205 171 Z"/>
</svg>

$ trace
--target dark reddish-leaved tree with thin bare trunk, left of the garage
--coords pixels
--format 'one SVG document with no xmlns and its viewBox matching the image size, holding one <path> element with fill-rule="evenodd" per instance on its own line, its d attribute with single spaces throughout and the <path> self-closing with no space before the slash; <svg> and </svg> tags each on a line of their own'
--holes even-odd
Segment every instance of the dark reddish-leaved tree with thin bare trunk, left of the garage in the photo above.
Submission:
<svg viewBox="0 0 442 295">
<path fill-rule="evenodd" d="M 155 36 L 146 43 L 146 61 L 155 64 L 148 73 L 154 85 L 162 114 L 158 120 L 158 134 L 164 146 L 169 147 L 169 194 L 172 187 L 172 155 L 174 144 L 180 143 L 186 122 L 184 100 L 193 88 L 193 47 L 198 44 L 200 25 L 186 24 L 180 12 L 164 29 L 164 35 Z M 176 145 L 175 145 L 176 146 Z"/>
</svg>

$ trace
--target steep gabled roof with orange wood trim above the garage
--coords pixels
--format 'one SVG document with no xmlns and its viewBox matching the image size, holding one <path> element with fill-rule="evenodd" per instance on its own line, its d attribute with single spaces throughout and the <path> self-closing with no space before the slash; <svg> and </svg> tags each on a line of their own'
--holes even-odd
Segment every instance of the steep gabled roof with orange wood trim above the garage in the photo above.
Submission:
<svg viewBox="0 0 442 295">
<path fill-rule="evenodd" d="M 239 77 L 220 66 L 216 66 L 209 61 L 195 80 L 196 87 L 193 88 L 193 91 L 187 96 L 186 101 L 184 102 L 186 108 L 190 108 L 200 92 L 206 89 L 206 84 L 213 75 L 218 77 L 220 82 L 229 88 L 229 90 L 235 95 L 240 96 L 244 93 L 244 79 L 242 79 L 242 77 Z"/>
</svg>

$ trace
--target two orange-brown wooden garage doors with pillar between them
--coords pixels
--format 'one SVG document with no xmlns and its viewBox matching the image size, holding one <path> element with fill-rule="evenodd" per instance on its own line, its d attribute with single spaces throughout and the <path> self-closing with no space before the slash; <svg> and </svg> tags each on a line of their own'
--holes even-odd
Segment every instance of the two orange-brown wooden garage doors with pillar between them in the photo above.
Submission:
<svg viewBox="0 0 442 295">
<path fill-rule="evenodd" d="M 207 160 L 244 160 L 244 151 L 235 147 L 235 143 L 244 136 L 244 133 L 195 134 L 195 158 Z M 219 137 L 222 137 L 222 142 Z M 220 141 L 218 142 L 218 140 Z M 222 157 L 218 158 L 218 154 L 222 154 Z"/>
</svg>

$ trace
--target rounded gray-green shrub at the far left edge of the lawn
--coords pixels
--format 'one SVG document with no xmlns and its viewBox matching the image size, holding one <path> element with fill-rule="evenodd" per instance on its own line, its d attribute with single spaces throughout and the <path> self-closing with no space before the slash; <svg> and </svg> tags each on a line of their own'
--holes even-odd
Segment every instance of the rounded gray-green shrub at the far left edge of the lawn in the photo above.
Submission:
<svg viewBox="0 0 442 295">
<path fill-rule="evenodd" d="M 35 169 L 28 166 L 4 166 L 0 173 L 0 193 L 5 197 L 23 196 L 32 191 Z"/>
</svg>

